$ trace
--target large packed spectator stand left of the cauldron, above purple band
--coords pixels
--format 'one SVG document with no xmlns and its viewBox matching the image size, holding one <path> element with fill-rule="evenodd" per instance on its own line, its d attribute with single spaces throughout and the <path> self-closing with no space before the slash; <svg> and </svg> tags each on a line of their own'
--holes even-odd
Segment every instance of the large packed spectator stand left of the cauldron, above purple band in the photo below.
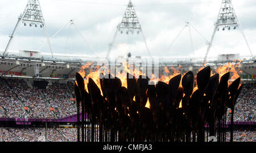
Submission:
<svg viewBox="0 0 256 153">
<path fill-rule="evenodd" d="M 46 89 L 40 89 L 30 80 L 0 77 L 0 118 L 63 118 L 76 114 L 70 84 L 49 81 Z"/>
</svg>

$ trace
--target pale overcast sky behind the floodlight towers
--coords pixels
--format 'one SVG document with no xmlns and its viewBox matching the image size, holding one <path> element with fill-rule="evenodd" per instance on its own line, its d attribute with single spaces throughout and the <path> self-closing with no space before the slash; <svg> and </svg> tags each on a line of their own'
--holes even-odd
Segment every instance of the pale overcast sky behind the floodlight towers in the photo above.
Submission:
<svg viewBox="0 0 256 153">
<path fill-rule="evenodd" d="M 105 57 L 112 42 L 116 27 L 122 20 L 128 0 L 41 0 L 49 37 L 74 19 L 97 56 Z M 221 0 L 133 0 L 148 48 L 152 56 L 204 57 L 206 40 L 213 33 Z M 0 0 L 0 50 L 5 49 L 19 14 L 27 0 Z M 254 56 L 256 55 L 256 1 L 233 0 L 233 6 L 241 22 L 243 32 Z M 191 23 L 192 42 L 189 29 L 185 28 L 170 47 L 170 44 L 185 26 Z M 203 36 L 203 37 L 202 37 Z M 10 50 L 39 49 L 47 42 L 42 28 L 18 29 Z M 95 55 L 77 32 L 75 26 L 66 26 L 51 40 L 53 53 Z M 194 48 L 194 49 L 192 49 Z M 194 51 L 193 51 L 194 50 Z M 49 52 L 45 46 L 42 52 Z M 148 56 L 142 35 L 118 34 L 110 57 L 127 55 Z M 249 49 L 238 30 L 219 31 L 213 42 L 209 57 L 221 53 L 250 55 Z"/>
</svg>

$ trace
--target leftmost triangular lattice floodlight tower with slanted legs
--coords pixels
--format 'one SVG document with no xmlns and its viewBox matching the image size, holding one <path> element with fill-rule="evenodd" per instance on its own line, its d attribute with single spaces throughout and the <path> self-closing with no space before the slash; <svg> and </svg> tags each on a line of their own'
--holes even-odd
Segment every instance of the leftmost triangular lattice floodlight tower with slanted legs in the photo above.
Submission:
<svg viewBox="0 0 256 153">
<path fill-rule="evenodd" d="M 30 26 L 30 27 L 35 26 L 35 27 L 44 28 L 44 32 L 46 33 L 46 38 L 47 38 L 47 42 L 49 45 L 49 49 L 51 50 L 51 55 L 53 57 L 52 48 L 51 48 L 51 44 L 49 42 L 48 33 L 46 31 L 46 24 L 44 23 L 43 13 L 42 13 L 42 10 L 40 7 L 39 0 L 28 0 L 27 6 L 26 6 L 23 14 L 20 14 L 20 16 L 18 18 L 18 22 L 16 23 L 14 31 L 11 34 L 10 40 L 5 48 L 5 52 L 3 52 L 3 56 L 5 57 L 8 49 L 11 45 L 11 42 L 16 34 L 16 31 L 18 30 L 21 23 L 23 23 L 24 26 Z"/>
</svg>

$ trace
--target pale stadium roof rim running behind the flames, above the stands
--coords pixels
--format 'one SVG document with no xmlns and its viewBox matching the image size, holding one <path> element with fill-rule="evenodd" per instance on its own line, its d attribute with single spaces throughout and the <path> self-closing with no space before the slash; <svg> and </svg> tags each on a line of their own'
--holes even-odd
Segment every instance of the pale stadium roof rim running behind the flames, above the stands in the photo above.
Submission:
<svg viewBox="0 0 256 153">
<path fill-rule="evenodd" d="M 64 58 L 64 57 L 63 57 Z M 68 58 L 68 57 L 66 57 Z M 135 57 L 138 63 L 141 63 L 142 58 Z M 2 76 L 22 76 L 22 77 L 41 77 L 41 78 L 52 78 L 52 79 L 74 79 L 76 72 L 80 71 L 82 65 L 86 63 L 91 63 L 92 66 L 88 67 L 88 69 L 92 69 L 97 65 L 102 65 L 102 61 L 106 59 L 77 59 L 74 60 L 72 58 L 68 59 L 47 59 L 47 58 L 34 58 L 34 57 L 21 57 L 16 55 L 9 55 L 6 57 L 0 56 L 0 75 Z M 122 61 L 126 61 L 127 59 L 115 59 L 114 63 L 117 66 L 122 65 Z M 197 61 L 195 59 L 158 59 L 159 61 L 159 69 L 163 69 L 163 67 L 174 67 L 179 68 L 179 70 L 183 73 L 189 71 L 196 71 L 203 66 L 201 60 Z M 254 60 L 243 60 L 236 61 L 233 60 L 225 60 L 225 61 L 209 61 L 207 66 L 209 65 L 212 68 L 221 67 L 225 63 L 240 63 L 242 74 L 241 76 L 245 76 L 242 78 L 254 79 L 256 75 L 256 61 Z M 253 77 L 251 77 L 253 75 Z"/>
</svg>

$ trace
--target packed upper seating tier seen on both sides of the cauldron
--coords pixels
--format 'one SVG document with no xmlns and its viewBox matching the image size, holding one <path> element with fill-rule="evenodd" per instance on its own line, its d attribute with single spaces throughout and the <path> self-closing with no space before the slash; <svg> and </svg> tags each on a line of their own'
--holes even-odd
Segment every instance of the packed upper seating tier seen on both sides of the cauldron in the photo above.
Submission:
<svg viewBox="0 0 256 153">
<path fill-rule="evenodd" d="M 32 86 L 33 81 L 0 77 L 0 117 L 63 118 L 76 114 L 76 104 L 71 101 L 71 98 L 75 98 L 73 82 L 46 80 L 46 89 L 39 89 Z M 255 87 L 255 82 L 243 86 L 234 112 L 234 121 L 255 121 Z"/>
</svg>

